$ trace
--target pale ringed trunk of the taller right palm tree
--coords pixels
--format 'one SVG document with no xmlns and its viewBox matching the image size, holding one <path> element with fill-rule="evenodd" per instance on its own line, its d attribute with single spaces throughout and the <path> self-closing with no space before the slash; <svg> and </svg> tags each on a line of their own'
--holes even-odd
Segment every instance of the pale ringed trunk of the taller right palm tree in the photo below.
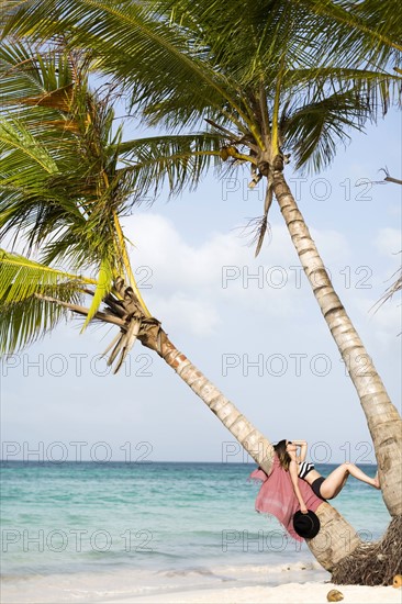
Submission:
<svg viewBox="0 0 402 604">
<path fill-rule="evenodd" d="M 401 515 L 401 417 L 332 287 L 317 248 L 279 168 L 273 171 L 273 191 L 304 272 L 359 395 L 375 445 L 383 501 L 392 516 Z"/>
</svg>

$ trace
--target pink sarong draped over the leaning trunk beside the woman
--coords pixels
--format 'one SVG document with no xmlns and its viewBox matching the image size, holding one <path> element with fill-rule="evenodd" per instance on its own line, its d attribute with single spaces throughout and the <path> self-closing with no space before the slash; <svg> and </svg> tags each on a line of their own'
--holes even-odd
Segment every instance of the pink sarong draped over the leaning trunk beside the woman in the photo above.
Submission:
<svg viewBox="0 0 402 604">
<path fill-rule="evenodd" d="M 281 467 L 278 456 L 273 456 L 272 469 L 269 476 L 267 476 L 264 470 L 258 469 L 254 470 L 249 478 L 263 481 L 256 499 L 257 512 L 272 514 L 293 539 L 302 541 L 303 538 L 300 537 L 293 528 L 293 516 L 295 512 L 300 510 L 300 504 L 293 490 L 290 473 Z M 323 500 L 313 493 L 310 484 L 305 482 L 305 480 L 301 478 L 298 480 L 299 489 L 308 510 L 315 512 L 316 508 L 324 503 Z"/>
</svg>

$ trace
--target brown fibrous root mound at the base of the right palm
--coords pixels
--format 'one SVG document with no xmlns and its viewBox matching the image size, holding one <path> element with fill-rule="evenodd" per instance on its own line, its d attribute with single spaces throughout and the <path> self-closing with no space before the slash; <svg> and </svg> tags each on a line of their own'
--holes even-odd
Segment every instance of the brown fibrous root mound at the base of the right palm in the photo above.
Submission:
<svg viewBox="0 0 402 604">
<path fill-rule="evenodd" d="M 360 544 L 333 570 L 337 584 L 392 585 L 395 574 L 402 574 L 402 516 L 392 518 L 378 543 Z"/>
</svg>

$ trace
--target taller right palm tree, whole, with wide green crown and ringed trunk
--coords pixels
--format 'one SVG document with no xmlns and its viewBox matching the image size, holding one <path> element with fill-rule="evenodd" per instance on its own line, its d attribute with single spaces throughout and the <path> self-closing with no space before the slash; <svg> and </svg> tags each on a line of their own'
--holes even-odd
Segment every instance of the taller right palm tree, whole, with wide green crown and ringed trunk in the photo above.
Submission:
<svg viewBox="0 0 402 604">
<path fill-rule="evenodd" d="M 168 177 L 172 189 L 181 189 L 194 175 L 197 180 L 211 156 L 248 163 L 252 186 L 266 181 L 257 251 L 275 197 L 360 398 L 394 526 L 402 512 L 401 420 L 333 290 L 283 166 L 292 154 L 297 169 L 309 163 L 320 169 L 349 128 L 361 130 L 387 110 L 398 76 L 386 67 L 389 60 L 398 66 L 401 52 L 393 42 L 397 4 L 382 10 L 371 1 L 354 8 L 308 0 L 5 4 L 5 31 L 41 40 L 67 31 L 69 44 L 90 47 L 93 65 L 130 93 L 149 123 L 172 131 L 209 124 L 204 135 L 215 136 L 220 148 L 183 149 L 182 135 L 143 147 L 129 143 L 127 172 L 138 188 Z"/>
</svg>

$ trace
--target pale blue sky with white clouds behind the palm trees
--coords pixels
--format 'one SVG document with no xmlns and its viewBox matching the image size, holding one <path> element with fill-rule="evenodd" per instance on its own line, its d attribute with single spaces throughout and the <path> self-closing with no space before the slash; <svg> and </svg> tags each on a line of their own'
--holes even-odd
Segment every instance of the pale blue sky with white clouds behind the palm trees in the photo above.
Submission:
<svg viewBox="0 0 402 604">
<path fill-rule="evenodd" d="M 293 180 L 292 188 L 400 409 L 400 300 L 370 309 L 400 265 L 402 188 L 355 187 L 359 179 L 381 180 L 384 166 L 401 178 L 400 114 L 351 136 L 327 170 Z M 286 176 L 297 178 L 291 164 Z M 244 186 L 247 177 L 239 172 L 236 183 L 211 174 L 197 192 L 169 203 L 160 195 L 125 219 L 145 300 L 172 342 L 268 438 L 305 438 L 316 461 L 375 461 L 354 387 L 276 204 L 271 239 L 257 259 L 239 236 L 263 209 L 261 193 Z M 96 355 L 113 334 L 80 335 L 74 321 L 2 365 L 3 458 L 26 459 L 37 449 L 31 459 L 246 459 L 205 405 L 139 344 L 130 368 L 102 374 Z"/>
</svg>

